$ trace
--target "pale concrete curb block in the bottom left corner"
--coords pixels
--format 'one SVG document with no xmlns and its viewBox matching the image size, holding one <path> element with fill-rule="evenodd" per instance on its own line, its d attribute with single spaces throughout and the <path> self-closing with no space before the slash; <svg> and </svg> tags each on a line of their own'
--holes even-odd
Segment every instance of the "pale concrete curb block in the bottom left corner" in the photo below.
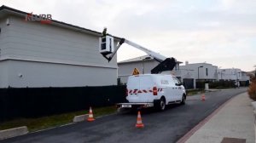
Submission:
<svg viewBox="0 0 256 143">
<path fill-rule="evenodd" d="M 0 130 L 0 140 L 12 138 L 15 136 L 20 136 L 27 134 L 28 130 L 26 126 L 14 128 L 14 129 L 5 129 L 5 130 Z"/>
</svg>

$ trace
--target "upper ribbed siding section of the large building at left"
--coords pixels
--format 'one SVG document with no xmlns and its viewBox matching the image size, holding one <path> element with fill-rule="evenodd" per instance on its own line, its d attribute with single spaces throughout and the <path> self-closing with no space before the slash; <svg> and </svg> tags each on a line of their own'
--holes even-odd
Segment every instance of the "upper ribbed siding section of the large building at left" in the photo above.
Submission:
<svg viewBox="0 0 256 143">
<path fill-rule="evenodd" d="M 84 65 L 116 67 L 116 56 L 108 63 L 98 52 L 98 37 L 58 26 L 42 25 L 11 17 L 3 37 L 10 57 L 58 60 Z M 4 50 L 4 49 L 3 49 Z"/>
</svg>

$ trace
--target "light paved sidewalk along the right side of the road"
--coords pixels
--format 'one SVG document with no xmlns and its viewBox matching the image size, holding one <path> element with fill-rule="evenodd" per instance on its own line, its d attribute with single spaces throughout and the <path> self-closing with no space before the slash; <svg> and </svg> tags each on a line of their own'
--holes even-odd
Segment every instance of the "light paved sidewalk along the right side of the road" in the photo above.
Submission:
<svg viewBox="0 0 256 143">
<path fill-rule="evenodd" d="M 254 143 L 251 102 L 247 93 L 237 95 L 195 131 L 186 143 Z"/>
</svg>

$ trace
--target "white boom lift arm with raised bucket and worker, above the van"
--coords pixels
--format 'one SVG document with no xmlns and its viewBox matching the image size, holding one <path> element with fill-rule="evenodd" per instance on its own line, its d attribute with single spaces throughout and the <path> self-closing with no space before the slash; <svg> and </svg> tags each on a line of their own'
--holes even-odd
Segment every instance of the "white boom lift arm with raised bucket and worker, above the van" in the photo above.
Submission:
<svg viewBox="0 0 256 143">
<path fill-rule="evenodd" d="M 101 54 L 108 60 L 112 60 L 114 54 L 119 50 L 120 46 L 123 43 L 127 43 L 136 49 L 140 49 L 143 52 L 147 53 L 149 56 L 153 57 L 154 60 L 160 62 L 158 66 L 155 66 L 154 69 L 151 70 L 151 73 L 160 73 L 164 71 L 172 71 L 172 69 L 176 66 L 176 60 L 174 58 L 166 58 L 165 56 L 155 53 L 149 49 L 144 48 L 143 46 L 133 43 L 125 38 L 121 38 L 119 43 L 116 46 L 116 49 L 113 50 L 113 37 L 107 34 L 107 28 L 104 28 L 102 32 L 102 37 L 100 38 L 100 52 Z M 107 50 L 106 50 L 107 49 Z M 109 55 L 108 55 L 109 54 Z M 108 55 L 108 56 L 107 56 Z"/>
</svg>

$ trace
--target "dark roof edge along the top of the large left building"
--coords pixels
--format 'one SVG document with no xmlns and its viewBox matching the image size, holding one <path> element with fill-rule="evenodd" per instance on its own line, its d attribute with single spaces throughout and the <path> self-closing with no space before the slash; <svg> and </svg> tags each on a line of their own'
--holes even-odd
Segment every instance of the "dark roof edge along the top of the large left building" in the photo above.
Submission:
<svg viewBox="0 0 256 143">
<path fill-rule="evenodd" d="M 3 6 L 0 7 L 0 12 L 3 11 L 3 10 L 8 10 L 8 11 L 10 11 L 10 12 L 14 12 L 14 13 L 18 13 L 18 14 L 24 14 L 24 15 L 30 14 L 30 13 L 26 13 L 26 12 L 24 12 L 24 11 L 20 11 L 20 10 L 18 10 L 18 9 L 13 9 L 13 8 L 7 7 L 7 6 L 5 6 L 5 5 L 3 5 Z M 99 32 L 99 31 L 92 31 L 92 30 L 90 30 L 90 29 L 86 29 L 86 28 L 83 28 L 83 27 L 80 27 L 80 26 L 74 26 L 74 25 L 67 24 L 67 23 L 65 23 L 65 22 L 61 22 L 61 21 L 58 21 L 58 20 L 51 20 L 51 22 L 52 22 L 53 24 L 58 24 L 58 25 L 62 25 L 62 26 L 67 26 L 67 27 L 76 28 L 76 29 L 79 29 L 80 31 L 87 31 L 87 32 L 89 32 L 89 33 L 96 34 L 96 35 L 99 35 L 99 36 L 102 35 L 102 33 Z M 120 39 L 120 37 L 114 37 L 114 38 Z"/>
</svg>

